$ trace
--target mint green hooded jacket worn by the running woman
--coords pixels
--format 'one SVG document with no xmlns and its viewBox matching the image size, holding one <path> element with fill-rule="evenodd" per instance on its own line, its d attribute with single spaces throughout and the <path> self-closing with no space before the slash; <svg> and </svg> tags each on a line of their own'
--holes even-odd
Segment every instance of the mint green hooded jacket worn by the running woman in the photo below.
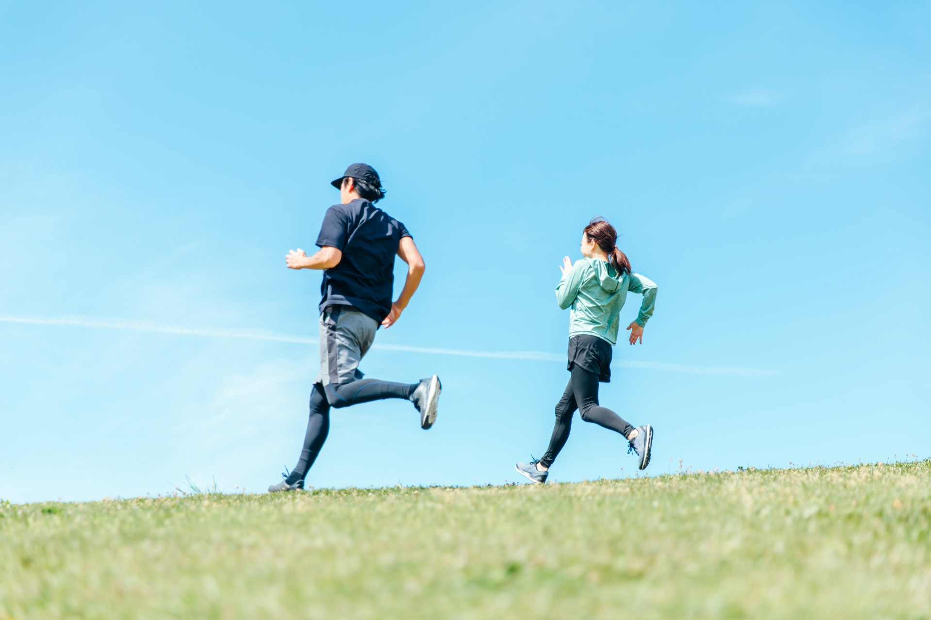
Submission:
<svg viewBox="0 0 931 620">
<path fill-rule="evenodd" d="M 575 261 L 573 268 L 562 274 L 556 287 L 556 300 L 569 313 L 569 337 L 591 334 L 617 342 L 617 327 L 621 309 L 627 299 L 627 291 L 642 293 L 640 314 L 637 324 L 644 326 L 653 316 L 656 300 L 656 284 L 637 273 L 622 273 L 620 277 L 611 263 L 600 258 L 583 258 Z"/>
</svg>

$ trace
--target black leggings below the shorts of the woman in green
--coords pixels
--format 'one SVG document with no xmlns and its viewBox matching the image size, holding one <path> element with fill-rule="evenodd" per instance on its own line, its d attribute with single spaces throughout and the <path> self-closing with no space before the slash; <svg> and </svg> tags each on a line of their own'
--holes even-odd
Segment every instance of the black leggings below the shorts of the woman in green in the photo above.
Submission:
<svg viewBox="0 0 931 620">
<path fill-rule="evenodd" d="M 562 393 L 560 402 L 556 404 L 556 426 L 553 428 L 553 436 L 549 439 L 546 455 L 540 459 L 540 465 L 543 467 L 548 468 L 553 464 L 562 446 L 569 439 L 576 409 L 586 422 L 594 422 L 605 429 L 617 431 L 625 438 L 634 429 L 621 416 L 598 404 L 598 375 L 589 373 L 578 364 L 574 364 L 572 376 L 569 377 L 569 385 Z"/>
</svg>

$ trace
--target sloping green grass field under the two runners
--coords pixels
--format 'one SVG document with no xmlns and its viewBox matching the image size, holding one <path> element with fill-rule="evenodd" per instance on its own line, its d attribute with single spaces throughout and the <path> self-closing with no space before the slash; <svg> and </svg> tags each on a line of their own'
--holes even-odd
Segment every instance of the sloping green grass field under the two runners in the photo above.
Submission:
<svg viewBox="0 0 931 620">
<path fill-rule="evenodd" d="M 928 618 L 931 463 L 0 505 L 0 617 Z"/>
</svg>

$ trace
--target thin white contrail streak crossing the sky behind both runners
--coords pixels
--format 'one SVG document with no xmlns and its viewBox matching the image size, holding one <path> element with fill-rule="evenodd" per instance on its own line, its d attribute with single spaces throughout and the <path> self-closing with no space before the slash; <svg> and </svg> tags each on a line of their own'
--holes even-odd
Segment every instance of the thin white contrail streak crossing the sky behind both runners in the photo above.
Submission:
<svg viewBox="0 0 931 620">
<path fill-rule="evenodd" d="M 0 323 L 27 323 L 34 325 L 69 325 L 74 327 L 97 327 L 99 329 L 129 330 L 135 332 L 157 332 L 160 334 L 175 334 L 179 336 L 213 336 L 220 338 L 249 338 L 252 340 L 271 340 L 274 342 L 293 342 L 304 345 L 316 345 L 317 338 L 279 334 L 263 329 L 237 329 L 235 327 L 183 327 L 181 325 L 167 325 L 152 321 L 138 321 L 135 319 L 121 319 L 118 317 L 89 317 L 89 316 L 7 316 L 0 314 Z M 411 353 L 433 353 L 437 355 L 458 355 L 462 357 L 480 357 L 499 360 L 532 360 L 536 362 L 565 362 L 565 355 L 549 353 L 546 351 L 473 351 L 462 349 L 435 349 L 430 347 L 409 347 L 407 345 L 376 344 L 372 349 L 397 350 Z M 678 363 L 635 362 L 630 360 L 617 360 L 614 362 L 625 368 L 643 368 L 647 370 L 661 370 L 673 373 L 692 373 L 696 375 L 736 375 L 736 376 L 769 376 L 776 375 L 773 370 L 757 370 L 754 368 L 732 368 L 723 366 L 686 366 Z"/>
</svg>

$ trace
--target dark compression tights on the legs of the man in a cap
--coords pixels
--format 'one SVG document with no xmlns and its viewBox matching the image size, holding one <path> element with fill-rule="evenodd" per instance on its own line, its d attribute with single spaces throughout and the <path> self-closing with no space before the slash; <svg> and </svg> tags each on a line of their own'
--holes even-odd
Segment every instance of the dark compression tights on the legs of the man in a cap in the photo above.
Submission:
<svg viewBox="0 0 931 620">
<path fill-rule="evenodd" d="M 307 420 L 307 433 L 304 435 L 304 449 L 301 457 L 290 472 L 287 480 L 289 484 L 304 480 L 307 472 L 317 460 L 323 443 L 327 441 L 330 432 L 330 407 L 348 407 L 360 402 L 380 401 L 386 398 L 409 398 L 416 383 L 393 383 L 379 379 L 359 379 L 351 383 L 332 389 L 317 383 L 314 391 L 310 393 L 310 418 Z M 331 405 L 331 402 L 335 401 Z"/>
</svg>

